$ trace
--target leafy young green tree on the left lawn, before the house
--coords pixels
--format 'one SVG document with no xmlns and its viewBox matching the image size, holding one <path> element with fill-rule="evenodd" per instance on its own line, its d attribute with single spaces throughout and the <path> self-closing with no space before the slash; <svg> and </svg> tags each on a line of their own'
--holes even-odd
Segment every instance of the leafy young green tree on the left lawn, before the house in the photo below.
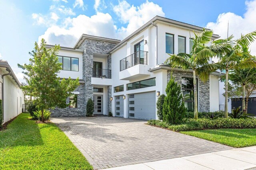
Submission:
<svg viewBox="0 0 256 170">
<path fill-rule="evenodd" d="M 60 45 L 55 45 L 52 49 L 46 49 L 46 42 L 42 39 L 40 45 L 35 43 L 34 50 L 29 53 L 32 58 L 29 64 L 20 65 L 28 80 L 22 90 L 30 92 L 34 97 L 34 102 L 42 113 L 42 122 L 44 122 L 44 109 L 66 107 L 66 98 L 71 92 L 79 86 L 79 79 L 60 80 L 57 73 L 62 69 L 61 63 L 58 62 L 58 51 Z"/>
</svg>

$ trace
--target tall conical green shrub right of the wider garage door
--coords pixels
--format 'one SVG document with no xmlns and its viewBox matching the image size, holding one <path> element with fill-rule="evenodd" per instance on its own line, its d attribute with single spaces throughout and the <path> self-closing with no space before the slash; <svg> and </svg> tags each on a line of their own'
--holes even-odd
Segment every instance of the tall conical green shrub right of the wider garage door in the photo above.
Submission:
<svg viewBox="0 0 256 170">
<path fill-rule="evenodd" d="M 180 124 L 186 114 L 186 107 L 182 100 L 181 88 L 171 77 L 166 86 L 166 97 L 163 105 L 163 121 L 170 124 Z"/>
</svg>

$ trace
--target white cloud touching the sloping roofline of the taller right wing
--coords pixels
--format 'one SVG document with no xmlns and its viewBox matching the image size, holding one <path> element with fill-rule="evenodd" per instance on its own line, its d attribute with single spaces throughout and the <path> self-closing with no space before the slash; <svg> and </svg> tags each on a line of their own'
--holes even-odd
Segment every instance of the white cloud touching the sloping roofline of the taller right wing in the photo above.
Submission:
<svg viewBox="0 0 256 170">
<path fill-rule="evenodd" d="M 125 0 L 114 6 L 114 12 L 119 16 L 122 23 L 128 23 L 127 27 L 118 29 L 119 37 L 126 37 L 136 31 L 139 27 L 151 20 L 154 16 L 165 16 L 162 7 L 148 0 L 140 6 L 128 4 Z"/>
</svg>

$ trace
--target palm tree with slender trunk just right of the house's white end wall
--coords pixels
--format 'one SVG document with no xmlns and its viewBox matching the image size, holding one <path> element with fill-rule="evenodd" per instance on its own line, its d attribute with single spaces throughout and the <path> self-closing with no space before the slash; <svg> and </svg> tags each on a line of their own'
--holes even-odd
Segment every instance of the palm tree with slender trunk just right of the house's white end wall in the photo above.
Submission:
<svg viewBox="0 0 256 170">
<path fill-rule="evenodd" d="M 233 35 L 227 39 L 218 39 L 213 41 L 211 50 L 216 53 L 219 58 L 220 68 L 226 70 L 225 78 L 225 110 L 224 117 L 228 117 L 228 74 L 229 70 L 246 69 L 256 67 L 256 62 L 252 56 L 245 52 L 248 47 L 256 39 L 256 31 L 241 35 L 240 39 L 233 41 Z"/>
</svg>

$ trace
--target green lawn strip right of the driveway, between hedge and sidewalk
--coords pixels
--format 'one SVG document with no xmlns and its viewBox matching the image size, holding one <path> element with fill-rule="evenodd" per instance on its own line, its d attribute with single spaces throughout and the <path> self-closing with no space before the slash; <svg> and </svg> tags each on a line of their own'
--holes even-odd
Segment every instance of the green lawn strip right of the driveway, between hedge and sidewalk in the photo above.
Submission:
<svg viewBox="0 0 256 170">
<path fill-rule="evenodd" d="M 180 133 L 236 148 L 256 145 L 256 129 L 209 129 Z"/>
</svg>

